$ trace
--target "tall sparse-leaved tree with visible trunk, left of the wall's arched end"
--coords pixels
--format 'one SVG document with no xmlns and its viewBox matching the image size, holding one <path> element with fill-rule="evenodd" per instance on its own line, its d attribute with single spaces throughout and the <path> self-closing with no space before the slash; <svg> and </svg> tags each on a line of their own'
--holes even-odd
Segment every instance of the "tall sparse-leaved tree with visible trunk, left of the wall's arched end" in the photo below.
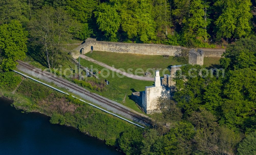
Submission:
<svg viewBox="0 0 256 155">
<path fill-rule="evenodd" d="M 38 10 L 29 24 L 31 45 L 43 53 L 49 68 L 55 67 L 65 58 L 60 43 L 71 38 L 73 20 L 61 8 L 44 6 Z"/>
</svg>

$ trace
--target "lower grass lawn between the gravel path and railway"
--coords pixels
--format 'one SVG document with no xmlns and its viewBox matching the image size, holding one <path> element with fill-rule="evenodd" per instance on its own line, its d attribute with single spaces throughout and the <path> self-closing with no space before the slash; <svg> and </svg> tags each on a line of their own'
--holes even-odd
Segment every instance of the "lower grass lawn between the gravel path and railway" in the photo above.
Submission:
<svg viewBox="0 0 256 155">
<path fill-rule="evenodd" d="M 95 64 L 93 62 L 80 59 L 80 64 L 84 67 L 88 67 L 89 69 L 102 70 L 104 67 Z M 93 68 L 91 68 L 91 65 Z M 134 109 L 137 112 L 141 112 L 141 110 L 136 106 L 135 102 L 131 100 L 131 94 L 134 91 L 144 91 L 145 86 L 151 86 L 154 82 L 151 81 L 143 81 L 143 80 L 135 80 L 129 77 L 118 77 L 116 72 L 110 71 L 110 75 L 105 77 L 108 74 L 106 70 L 102 71 L 101 74 L 97 75 L 100 80 L 104 81 L 105 79 L 109 81 L 108 88 L 103 92 L 95 92 L 99 95 L 112 99 L 118 103 L 121 103 L 131 109 Z M 114 76 L 112 76 L 114 74 Z M 92 79 L 94 77 L 87 77 L 88 79 Z"/>
</svg>

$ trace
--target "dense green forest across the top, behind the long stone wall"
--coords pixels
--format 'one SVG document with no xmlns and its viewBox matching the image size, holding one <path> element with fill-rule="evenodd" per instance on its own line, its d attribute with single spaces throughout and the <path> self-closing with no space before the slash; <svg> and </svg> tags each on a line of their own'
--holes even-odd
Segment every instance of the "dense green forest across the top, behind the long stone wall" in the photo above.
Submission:
<svg viewBox="0 0 256 155">
<path fill-rule="evenodd" d="M 88 37 L 225 48 L 254 35 L 255 6 L 253 0 L 0 0 L 1 33 L 19 30 L 12 37 L 23 45 L 1 43 L 12 51 L 26 51 L 27 43 L 29 54 L 49 68 L 68 59 L 63 44 Z"/>
</svg>

